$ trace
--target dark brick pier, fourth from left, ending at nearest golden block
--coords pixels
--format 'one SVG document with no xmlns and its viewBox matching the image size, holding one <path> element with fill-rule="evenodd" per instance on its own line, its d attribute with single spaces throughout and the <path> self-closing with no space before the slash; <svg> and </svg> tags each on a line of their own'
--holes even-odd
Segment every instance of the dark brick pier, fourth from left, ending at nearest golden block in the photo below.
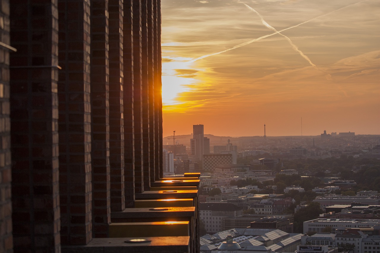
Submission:
<svg viewBox="0 0 380 253">
<path fill-rule="evenodd" d="M 109 166 L 108 0 L 91 2 L 92 236 L 108 237 Z"/>
</svg>

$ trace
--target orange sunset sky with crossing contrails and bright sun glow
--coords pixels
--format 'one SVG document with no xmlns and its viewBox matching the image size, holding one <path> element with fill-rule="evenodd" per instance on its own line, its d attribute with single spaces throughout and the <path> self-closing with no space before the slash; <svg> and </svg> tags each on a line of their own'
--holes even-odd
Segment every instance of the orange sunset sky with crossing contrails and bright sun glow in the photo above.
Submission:
<svg viewBox="0 0 380 253">
<path fill-rule="evenodd" d="M 380 134 L 379 0 L 162 0 L 163 136 Z"/>
</svg>

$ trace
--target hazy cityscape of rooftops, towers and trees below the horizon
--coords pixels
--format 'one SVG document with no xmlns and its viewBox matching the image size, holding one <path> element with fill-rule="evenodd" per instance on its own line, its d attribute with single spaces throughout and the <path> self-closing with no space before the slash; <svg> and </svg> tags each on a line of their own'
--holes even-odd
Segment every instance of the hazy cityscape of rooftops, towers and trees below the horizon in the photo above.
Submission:
<svg viewBox="0 0 380 253">
<path fill-rule="evenodd" d="M 205 127 L 163 139 L 165 177 L 201 173 L 201 252 L 380 252 L 380 136 Z"/>
</svg>

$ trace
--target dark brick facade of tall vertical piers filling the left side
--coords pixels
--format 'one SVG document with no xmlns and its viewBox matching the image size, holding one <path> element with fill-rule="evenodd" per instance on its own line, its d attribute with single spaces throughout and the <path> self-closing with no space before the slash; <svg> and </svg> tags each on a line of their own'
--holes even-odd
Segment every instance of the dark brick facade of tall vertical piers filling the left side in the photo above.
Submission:
<svg viewBox="0 0 380 253">
<path fill-rule="evenodd" d="M 112 251 L 115 215 L 163 177 L 160 8 L 0 2 L 0 252 Z"/>
</svg>

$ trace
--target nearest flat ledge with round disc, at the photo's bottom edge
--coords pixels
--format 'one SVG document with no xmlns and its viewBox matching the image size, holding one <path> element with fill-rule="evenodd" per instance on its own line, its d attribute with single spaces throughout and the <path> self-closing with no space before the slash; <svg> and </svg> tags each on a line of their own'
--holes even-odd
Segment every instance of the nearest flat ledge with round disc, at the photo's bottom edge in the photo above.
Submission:
<svg viewBox="0 0 380 253">
<path fill-rule="evenodd" d="M 148 242 L 125 242 L 136 237 L 94 238 L 87 245 L 65 246 L 62 253 L 190 253 L 189 236 L 143 237 Z"/>
</svg>

